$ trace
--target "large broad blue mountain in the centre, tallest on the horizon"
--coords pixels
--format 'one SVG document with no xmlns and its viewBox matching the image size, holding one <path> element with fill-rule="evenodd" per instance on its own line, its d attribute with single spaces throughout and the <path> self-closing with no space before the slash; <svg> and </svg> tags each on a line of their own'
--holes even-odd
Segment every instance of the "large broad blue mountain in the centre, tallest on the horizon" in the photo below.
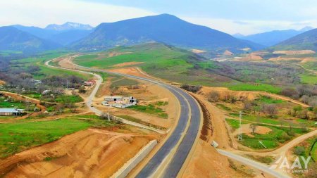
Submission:
<svg viewBox="0 0 317 178">
<path fill-rule="evenodd" d="M 180 47 L 199 47 L 207 50 L 230 50 L 259 46 L 248 44 L 224 32 L 187 23 L 174 15 L 162 14 L 101 23 L 92 34 L 72 45 L 75 49 L 109 49 L 117 45 L 162 42 Z"/>
</svg>

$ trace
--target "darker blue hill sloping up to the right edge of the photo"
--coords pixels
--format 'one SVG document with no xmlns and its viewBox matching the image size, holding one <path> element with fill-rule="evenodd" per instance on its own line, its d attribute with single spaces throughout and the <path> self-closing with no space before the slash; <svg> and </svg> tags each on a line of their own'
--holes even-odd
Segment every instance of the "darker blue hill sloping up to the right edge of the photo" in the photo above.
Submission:
<svg viewBox="0 0 317 178">
<path fill-rule="evenodd" d="M 313 50 L 317 51 L 317 29 L 309 30 L 273 46 L 273 50 Z"/>
</svg>

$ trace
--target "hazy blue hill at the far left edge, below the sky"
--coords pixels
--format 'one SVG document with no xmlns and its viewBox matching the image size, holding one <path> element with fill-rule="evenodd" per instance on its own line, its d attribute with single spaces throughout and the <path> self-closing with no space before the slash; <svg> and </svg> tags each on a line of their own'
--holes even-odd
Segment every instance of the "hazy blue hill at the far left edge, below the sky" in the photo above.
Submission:
<svg viewBox="0 0 317 178">
<path fill-rule="evenodd" d="M 33 53 L 56 49 L 60 47 L 54 42 L 49 42 L 32 34 L 23 32 L 15 27 L 0 27 L 0 50 L 23 51 Z"/>
</svg>

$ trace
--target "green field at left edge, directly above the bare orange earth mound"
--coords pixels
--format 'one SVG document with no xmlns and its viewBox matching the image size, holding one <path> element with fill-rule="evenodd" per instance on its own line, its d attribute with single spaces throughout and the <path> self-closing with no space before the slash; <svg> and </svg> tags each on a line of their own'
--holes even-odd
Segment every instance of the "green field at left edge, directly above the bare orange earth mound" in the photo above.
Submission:
<svg viewBox="0 0 317 178">
<path fill-rule="evenodd" d="M 60 139 L 88 127 L 112 127 L 104 120 L 61 119 L 52 121 L 1 124 L 0 158 L 13 155 L 27 148 Z"/>
</svg>

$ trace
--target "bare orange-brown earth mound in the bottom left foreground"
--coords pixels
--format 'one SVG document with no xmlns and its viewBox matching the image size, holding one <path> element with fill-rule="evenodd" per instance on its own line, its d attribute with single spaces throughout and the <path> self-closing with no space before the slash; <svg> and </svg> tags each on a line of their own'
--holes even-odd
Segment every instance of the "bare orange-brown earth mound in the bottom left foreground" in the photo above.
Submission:
<svg viewBox="0 0 317 178">
<path fill-rule="evenodd" d="M 0 160 L 5 177 L 110 177 L 156 136 L 87 129 Z"/>
</svg>

